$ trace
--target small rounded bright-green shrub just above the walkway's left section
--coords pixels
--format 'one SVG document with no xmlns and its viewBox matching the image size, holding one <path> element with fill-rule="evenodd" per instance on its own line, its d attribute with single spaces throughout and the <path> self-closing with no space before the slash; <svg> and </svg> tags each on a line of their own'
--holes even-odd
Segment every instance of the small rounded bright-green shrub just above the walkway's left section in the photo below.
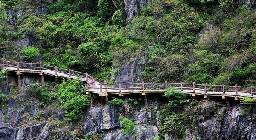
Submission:
<svg viewBox="0 0 256 140">
<path fill-rule="evenodd" d="M 35 58 L 36 56 L 38 56 L 40 51 L 38 50 L 38 48 L 36 48 L 34 46 L 29 46 L 29 47 L 23 48 L 20 51 L 20 53 L 22 54 L 22 56 L 20 56 L 20 58 L 32 59 L 32 58 Z"/>
</svg>

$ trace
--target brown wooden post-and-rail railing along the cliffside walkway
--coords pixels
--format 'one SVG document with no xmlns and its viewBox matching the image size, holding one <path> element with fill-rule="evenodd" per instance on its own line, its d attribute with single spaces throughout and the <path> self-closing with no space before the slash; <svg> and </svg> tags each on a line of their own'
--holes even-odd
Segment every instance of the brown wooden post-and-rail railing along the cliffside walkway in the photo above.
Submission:
<svg viewBox="0 0 256 140">
<path fill-rule="evenodd" d="M 31 69 L 31 70 L 51 70 L 55 71 L 55 75 L 58 75 L 58 73 L 67 74 L 68 77 L 71 76 L 78 76 L 80 78 L 85 78 L 86 84 L 87 84 L 87 90 L 89 89 L 96 89 L 99 90 L 99 92 L 125 92 L 125 91 L 147 91 L 147 90 L 161 90 L 165 91 L 168 89 L 176 89 L 176 90 L 191 90 L 192 92 L 200 91 L 203 93 L 209 93 L 209 92 L 221 92 L 221 94 L 225 94 L 225 92 L 232 93 L 234 95 L 238 95 L 238 93 L 245 93 L 247 96 L 254 96 L 256 94 L 256 88 L 255 87 L 242 87 L 238 86 L 237 84 L 235 86 L 230 85 L 210 85 L 210 84 L 195 84 L 195 83 L 169 83 L 169 82 L 163 82 L 163 83 L 129 83 L 129 84 L 108 84 L 108 83 L 99 83 L 96 82 L 93 78 L 93 76 L 90 76 L 88 73 L 81 73 L 78 71 L 70 70 L 70 69 L 63 69 L 59 67 L 53 67 L 47 64 L 43 63 L 20 63 L 20 62 L 12 62 L 12 61 L 5 61 L 2 62 L 2 67 L 15 67 L 17 70 L 19 69 Z"/>
</svg>

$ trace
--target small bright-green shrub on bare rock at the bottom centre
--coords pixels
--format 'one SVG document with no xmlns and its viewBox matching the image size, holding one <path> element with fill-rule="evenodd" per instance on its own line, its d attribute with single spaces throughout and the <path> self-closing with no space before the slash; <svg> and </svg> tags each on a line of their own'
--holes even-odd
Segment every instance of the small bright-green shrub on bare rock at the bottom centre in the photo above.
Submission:
<svg viewBox="0 0 256 140">
<path fill-rule="evenodd" d="M 130 119 L 128 119 L 128 118 L 123 118 L 122 116 L 119 117 L 119 120 L 121 120 L 120 123 L 121 123 L 121 124 L 124 126 L 124 128 L 125 128 L 124 131 L 123 131 L 124 134 L 130 133 L 131 135 L 136 136 L 137 131 L 134 130 L 134 128 L 135 128 L 136 126 L 138 126 L 138 123 L 135 123 L 135 122 L 133 122 L 132 120 L 130 120 Z"/>
</svg>

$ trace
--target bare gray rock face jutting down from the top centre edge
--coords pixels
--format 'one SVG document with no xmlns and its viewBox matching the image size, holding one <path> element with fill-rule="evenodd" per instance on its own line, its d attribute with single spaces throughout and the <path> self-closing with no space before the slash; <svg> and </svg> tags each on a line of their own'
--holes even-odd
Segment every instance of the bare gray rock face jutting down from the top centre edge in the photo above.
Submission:
<svg viewBox="0 0 256 140">
<path fill-rule="evenodd" d="M 140 9 L 146 8 L 151 0 L 124 0 L 127 21 L 140 15 Z"/>
</svg>

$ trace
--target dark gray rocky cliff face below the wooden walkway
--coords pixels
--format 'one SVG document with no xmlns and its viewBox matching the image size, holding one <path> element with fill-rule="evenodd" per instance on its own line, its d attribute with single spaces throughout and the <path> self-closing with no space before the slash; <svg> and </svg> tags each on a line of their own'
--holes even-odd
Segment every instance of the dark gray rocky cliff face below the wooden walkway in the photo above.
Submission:
<svg viewBox="0 0 256 140">
<path fill-rule="evenodd" d="M 134 95 L 123 98 L 121 106 L 107 105 L 102 98 L 95 97 L 96 105 L 85 110 L 79 122 L 65 120 L 63 110 L 58 103 L 41 106 L 29 90 L 29 84 L 37 78 L 24 75 L 23 87 L 15 89 L 15 77 L 9 77 L 9 84 L 1 84 L 1 92 L 9 95 L 5 107 L 0 110 L 1 140 L 73 140 L 86 137 L 92 133 L 103 140 L 152 140 L 160 134 L 160 112 L 166 108 L 167 100 L 159 95 L 148 95 L 148 106 L 141 100 L 143 96 Z M 139 101 L 134 105 L 129 98 Z M 195 116 L 186 128 L 186 140 L 254 140 L 256 139 L 256 111 L 252 106 L 244 106 L 230 99 L 231 110 L 219 99 L 204 100 L 190 98 L 193 104 L 184 104 L 183 113 Z M 186 109 L 185 109 L 186 108 Z M 251 109 L 251 110 L 250 110 Z M 123 134 L 119 116 L 129 118 L 139 125 L 135 128 L 137 135 Z M 165 134 L 166 140 L 176 140 L 175 134 Z"/>
</svg>

